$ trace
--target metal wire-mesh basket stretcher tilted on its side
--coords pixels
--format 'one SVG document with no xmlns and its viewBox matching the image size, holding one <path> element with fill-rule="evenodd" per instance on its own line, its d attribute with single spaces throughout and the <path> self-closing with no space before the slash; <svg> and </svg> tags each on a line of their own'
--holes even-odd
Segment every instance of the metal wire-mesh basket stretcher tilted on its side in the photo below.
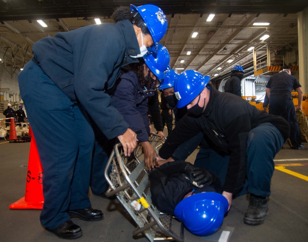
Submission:
<svg viewBox="0 0 308 242">
<path fill-rule="evenodd" d="M 156 152 L 163 144 L 156 134 L 152 134 L 149 142 Z M 110 166 L 111 173 L 108 174 Z M 160 212 L 152 204 L 148 173 L 140 145 L 136 147 L 134 155 L 125 157 L 122 145 L 116 144 L 105 168 L 105 178 L 110 185 L 106 195 L 116 195 L 135 220 L 137 228 L 133 232 L 134 236 L 142 233 L 151 242 L 183 242 L 183 225 L 172 216 Z M 180 235 L 176 235 L 172 228 L 177 228 Z"/>
</svg>

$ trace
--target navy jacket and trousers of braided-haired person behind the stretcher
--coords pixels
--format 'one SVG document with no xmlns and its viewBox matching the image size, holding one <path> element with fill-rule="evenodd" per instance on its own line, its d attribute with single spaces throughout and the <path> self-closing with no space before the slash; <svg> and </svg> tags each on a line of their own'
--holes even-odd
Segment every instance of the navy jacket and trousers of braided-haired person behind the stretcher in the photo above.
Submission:
<svg viewBox="0 0 308 242">
<path fill-rule="evenodd" d="M 149 140 L 148 98 L 154 97 L 155 94 L 157 94 L 155 89 L 141 87 L 139 78 L 129 65 L 121 68 L 121 76 L 115 83 L 112 100 L 115 102 L 116 109 L 128 123 L 129 128 L 137 134 L 139 142 Z M 155 103 L 155 100 L 152 100 L 151 103 L 153 103 L 151 104 L 153 107 L 150 110 L 154 110 L 158 104 Z M 161 126 L 161 124 L 156 123 L 156 126 Z M 108 158 L 106 157 L 102 162 L 100 152 L 108 154 L 112 148 L 106 146 L 107 143 L 103 143 L 101 138 L 98 139 L 99 142 L 95 142 L 91 171 L 91 190 L 94 194 L 103 193 L 109 187 L 103 175 Z"/>
</svg>

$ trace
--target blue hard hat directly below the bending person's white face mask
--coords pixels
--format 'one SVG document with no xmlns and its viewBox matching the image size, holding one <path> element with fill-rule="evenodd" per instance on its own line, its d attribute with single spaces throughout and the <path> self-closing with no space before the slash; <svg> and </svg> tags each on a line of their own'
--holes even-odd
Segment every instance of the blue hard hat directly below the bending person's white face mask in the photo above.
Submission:
<svg viewBox="0 0 308 242">
<path fill-rule="evenodd" d="M 158 44 L 157 52 L 148 48 L 148 52 L 143 56 L 145 64 L 157 76 L 158 79 L 164 78 L 164 71 L 167 70 L 170 62 L 170 55 L 165 46 Z"/>
</svg>

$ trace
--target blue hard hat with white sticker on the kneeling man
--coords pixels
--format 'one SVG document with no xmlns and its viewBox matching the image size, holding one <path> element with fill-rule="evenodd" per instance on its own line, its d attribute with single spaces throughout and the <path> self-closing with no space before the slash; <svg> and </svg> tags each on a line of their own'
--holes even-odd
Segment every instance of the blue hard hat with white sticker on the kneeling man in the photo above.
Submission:
<svg viewBox="0 0 308 242">
<path fill-rule="evenodd" d="M 210 77 L 194 70 L 182 72 L 174 82 L 174 94 L 178 100 L 176 107 L 181 108 L 193 101 L 209 83 Z"/>
</svg>

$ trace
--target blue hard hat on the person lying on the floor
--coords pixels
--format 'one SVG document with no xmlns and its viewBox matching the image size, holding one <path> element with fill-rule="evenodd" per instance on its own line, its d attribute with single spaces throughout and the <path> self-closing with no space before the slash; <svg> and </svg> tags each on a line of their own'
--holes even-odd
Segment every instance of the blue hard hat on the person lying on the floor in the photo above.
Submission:
<svg viewBox="0 0 308 242">
<path fill-rule="evenodd" d="M 191 233 L 208 236 L 221 226 L 228 207 L 228 200 L 219 193 L 197 193 L 180 201 L 174 214 Z"/>
</svg>

